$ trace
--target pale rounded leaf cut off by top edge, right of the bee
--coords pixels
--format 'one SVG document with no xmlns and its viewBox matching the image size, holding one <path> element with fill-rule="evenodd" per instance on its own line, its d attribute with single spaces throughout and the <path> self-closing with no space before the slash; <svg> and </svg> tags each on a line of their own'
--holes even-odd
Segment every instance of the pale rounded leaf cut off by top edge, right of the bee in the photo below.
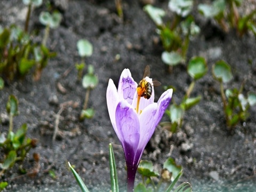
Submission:
<svg viewBox="0 0 256 192">
<path fill-rule="evenodd" d="M 186 17 L 193 8 L 193 0 L 171 0 L 168 6 L 176 14 Z"/>
</svg>

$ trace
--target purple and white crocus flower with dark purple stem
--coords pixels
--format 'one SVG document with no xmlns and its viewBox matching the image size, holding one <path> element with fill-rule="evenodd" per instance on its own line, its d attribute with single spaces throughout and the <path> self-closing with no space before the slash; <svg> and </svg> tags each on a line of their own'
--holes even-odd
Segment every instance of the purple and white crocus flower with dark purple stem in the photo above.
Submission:
<svg viewBox="0 0 256 192">
<path fill-rule="evenodd" d="M 146 77 L 152 83 L 152 79 Z M 107 106 L 110 121 L 120 140 L 127 166 L 127 191 L 133 191 L 134 179 L 143 150 L 153 135 L 165 109 L 172 98 L 172 89 L 165 91 L 158 102 L 154 102 L 154 86 L 149 99 L 140 98 L 138 84 L 129 69 L 124 69 L 118 89 L 112 79 L 107 88 Z"/>
</svg>

